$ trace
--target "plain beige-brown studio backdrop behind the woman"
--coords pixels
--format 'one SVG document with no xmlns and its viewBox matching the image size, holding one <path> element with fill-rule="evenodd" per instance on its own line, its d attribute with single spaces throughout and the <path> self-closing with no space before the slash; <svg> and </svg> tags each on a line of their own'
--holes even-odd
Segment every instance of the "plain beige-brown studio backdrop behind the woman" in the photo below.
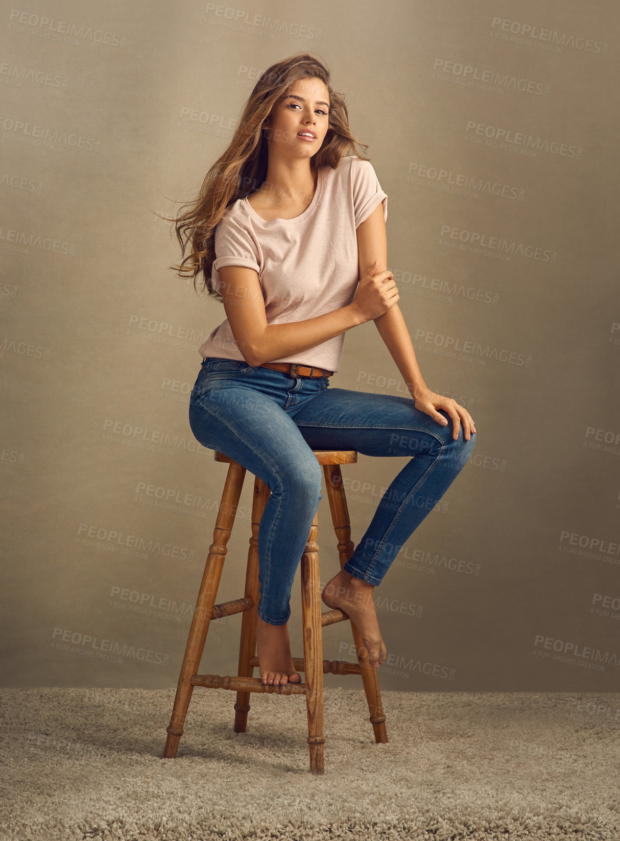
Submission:
<svg viewBox="0 0 620 841">
<path fill-rule="evenodd" d="M 381 685 L 564 690 L 575 709 L 617 690 L 615 0 L 32 0 L 2 16 L 4 685 L 176 685 L 226 471 L 188 397 L 225 314 L 168 268 L 155 213 L 193 198 L 259 74 L 307 50 L 389 195 L 427 384 L 478 430 L 375 590 Z M 407 394 L 372 322 L 332 383 Z M 355 542 L 404 463 L 343 468 Z M 242 595 L 251 502 L 248 474 L 218 600 Z M 326 581 L 326 494 L 318 542 Z M 292 607 L 301 656 L 299 572 Z M 240 627 L 211 626 L 203 671 L 236 674 Z M 354 659 L 346 625 L 324 637 Z"/>
</svg>

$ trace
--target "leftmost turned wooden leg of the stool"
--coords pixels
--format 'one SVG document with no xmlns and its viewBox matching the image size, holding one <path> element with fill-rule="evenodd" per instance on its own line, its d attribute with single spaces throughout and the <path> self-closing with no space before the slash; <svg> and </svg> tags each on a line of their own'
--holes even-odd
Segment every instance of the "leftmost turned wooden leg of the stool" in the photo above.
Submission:
<svg viewBox="0 0 620 841">
<path fill-rule="evenodd" d="M 239 505 L 245 476 L 246 468 L 241 467 L 241 464 L 236 462 L 230 463 L 220 502 L 220 510 L 215 521 L 213 543 L 209 547 L 209 556 L 204 564 L 204 574 L 196 601 L 196 609 L 193 611 L 192 626 L 189 629 L 188 644 L 185 648 L 177 694 L 172 707 L 172 717 L 167 727 L 168 736 L 163 753 L 164 759 L 173 759 L 177 755 L 178 742 L 183 736 L 183 724 L 193 691 L 193 685 L 189 681 L 194 674 L 198 673 L 200 666 L 204 642 L 207 638 L 209 622 L 215 605 L 215 597 L 220 587 L 224 558 L 227 552 L 226 544 L 231 537 L 232 524 L 235 521 L 235 513 Z"/>
</svg>

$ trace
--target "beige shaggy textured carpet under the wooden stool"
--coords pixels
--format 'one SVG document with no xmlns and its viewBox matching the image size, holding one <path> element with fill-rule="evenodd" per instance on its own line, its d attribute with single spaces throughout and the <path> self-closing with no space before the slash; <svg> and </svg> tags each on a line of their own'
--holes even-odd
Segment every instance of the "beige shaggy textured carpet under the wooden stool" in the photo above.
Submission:
<svg viewBox="0 0 620 841">
<path fill-rule="evenodd" d="M 174 690 L 2 690 L 0 838 L 620 839 L 620 694 L 326 690 L 326 774 L 304 696 L 197 688 L 178 759 Z"/>
</svg>

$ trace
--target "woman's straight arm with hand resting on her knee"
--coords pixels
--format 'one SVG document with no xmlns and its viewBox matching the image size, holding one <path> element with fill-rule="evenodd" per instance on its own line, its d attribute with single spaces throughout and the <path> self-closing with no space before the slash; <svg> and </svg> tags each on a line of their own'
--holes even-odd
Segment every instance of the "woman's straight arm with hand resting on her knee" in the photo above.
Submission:
<svg viewBox="0 0 620 841">
<path fill-rule="evenodd" d="M 360 277 L 375 260 L 378 262 L 377 272 L 387 268 L 388 246 L 383 204 L 379 204 L 368 216 L 368 219 L 358 225 L 357 233 Z M 411 397 L 415 401 L 416 409 L 426 412 L 442 426 L 446 426 L 448 421 L 443 415 L 439 414 L 438 410 L 447 412 L 453 421 L 453 437 L 455 440 L 458 438 L 458 431 L 461 421 L 463 421 L 464 436 L 469 441 L 471 433 L 475 432 L 474 421 L 472 421 L 469 412 L 463 406 L 458 405 L 456 400 L 451 397 L 443 397 L 442 394 L 435 394 L 427 387 L 417 364 L 416 352 L 413 349 L 411 336 L 399 305 L 394 304 L 383 315 L 379 315 L 379 318 L 375 318 L 374 324 L 405 380 Z"/>
</svg>

